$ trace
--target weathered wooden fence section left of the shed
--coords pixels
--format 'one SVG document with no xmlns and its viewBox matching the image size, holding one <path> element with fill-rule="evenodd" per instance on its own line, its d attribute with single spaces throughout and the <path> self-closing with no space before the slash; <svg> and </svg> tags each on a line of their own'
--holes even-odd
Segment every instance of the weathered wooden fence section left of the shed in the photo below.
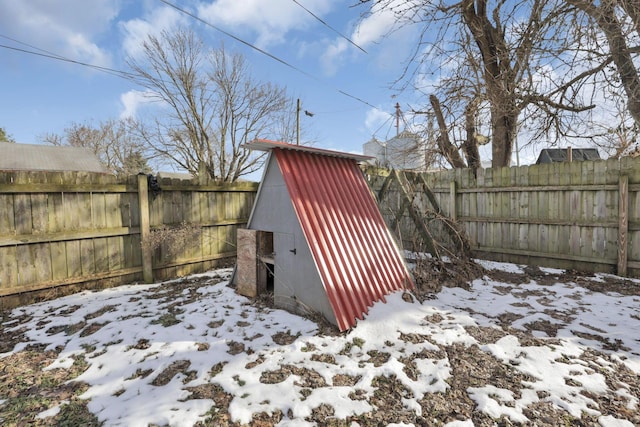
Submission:
<svg viewBox="0 0 640 427">
<path fill-rule="evenodd" d="M 206 271 L 235 256 L 256 191 L 256 183 L 163 179 L 149 189 L 145 175 L 0 172 L 0 302 Z"/>
</svg>

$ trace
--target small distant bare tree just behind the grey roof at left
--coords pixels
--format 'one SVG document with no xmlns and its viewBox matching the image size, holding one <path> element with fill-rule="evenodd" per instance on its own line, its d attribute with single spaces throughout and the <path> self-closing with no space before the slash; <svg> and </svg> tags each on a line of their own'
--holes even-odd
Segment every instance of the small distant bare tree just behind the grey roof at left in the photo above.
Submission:
<svg viewBox="0 0 640 427">
<path fill-rule="evenodd" d="M 107 120 L 97 126 L 73 122 L 63 134 L 47 133 L 40 139 L 52 145 L 89 148 L 116 175 L 150 173 L 144 144 L 134 131 L 136 126 L 133 119 Z"/>
</svg>

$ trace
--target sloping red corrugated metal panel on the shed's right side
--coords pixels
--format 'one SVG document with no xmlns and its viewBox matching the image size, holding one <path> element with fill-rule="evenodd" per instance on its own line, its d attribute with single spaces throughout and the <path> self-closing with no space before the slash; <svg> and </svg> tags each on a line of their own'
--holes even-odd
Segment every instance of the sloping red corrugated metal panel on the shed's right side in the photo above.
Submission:
<svg viewBox="0 0 640 427">
<path fill-rule="evenodd" d="M 390 292 L 413 287 L 353 158 L 273 151 L 341 330 Z"/>
</svg>

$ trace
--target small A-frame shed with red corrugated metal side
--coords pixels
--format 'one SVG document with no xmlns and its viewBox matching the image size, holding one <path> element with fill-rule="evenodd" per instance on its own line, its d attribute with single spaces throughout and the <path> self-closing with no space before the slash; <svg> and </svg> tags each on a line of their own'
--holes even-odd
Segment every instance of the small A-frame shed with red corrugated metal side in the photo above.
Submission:
<svg viewBox="0 0 640 427">
<path fill-rule="evenodd" d="M 273 286 L 276 306 L 346 330 L 385 295 L 414 287 L 358 167 L 368 157 L 266 140 L 247 147 L 268 159 L 238 230 L 239 293 Z"/>
</svg>

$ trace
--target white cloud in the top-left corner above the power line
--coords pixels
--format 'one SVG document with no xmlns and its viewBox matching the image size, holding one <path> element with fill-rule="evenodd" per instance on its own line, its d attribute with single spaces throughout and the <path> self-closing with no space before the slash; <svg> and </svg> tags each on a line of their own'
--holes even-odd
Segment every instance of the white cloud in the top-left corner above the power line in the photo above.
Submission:
<svg viewBox="0 0 640 427">
<path fill-rule="evenodd" d="M 3 33 L 37 48 L 99 66 L 109 53 L 95 39 L 109 30 L 119 13 L 113 0 L 0 0 Z"/>
</svg>

